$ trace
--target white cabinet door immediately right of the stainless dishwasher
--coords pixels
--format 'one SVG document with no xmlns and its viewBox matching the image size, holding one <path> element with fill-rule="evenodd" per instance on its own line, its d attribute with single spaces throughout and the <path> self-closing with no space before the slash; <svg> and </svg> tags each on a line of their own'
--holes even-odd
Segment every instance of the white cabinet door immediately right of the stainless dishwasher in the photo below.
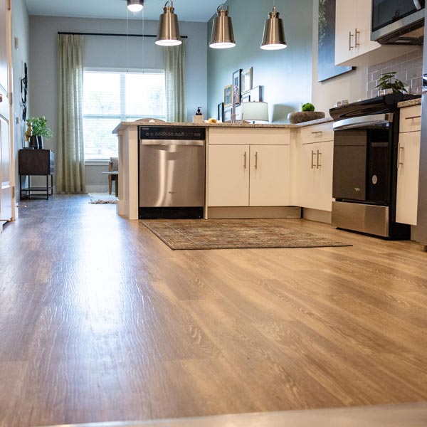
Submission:
<svg viewBox="0 0 427 427">
<path fill-rule="evenodd" d="M 249 146 L 209 145 L 208 205 L 249 206 Z"/>
</svg>

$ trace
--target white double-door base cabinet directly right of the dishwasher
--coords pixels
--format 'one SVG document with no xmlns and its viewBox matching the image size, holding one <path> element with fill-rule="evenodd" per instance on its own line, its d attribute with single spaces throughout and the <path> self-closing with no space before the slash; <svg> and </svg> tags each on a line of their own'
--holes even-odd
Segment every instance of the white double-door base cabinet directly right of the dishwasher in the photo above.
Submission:
<svg viewBox="0 0 427 427">
<path fill-rule="evenodd" d="M 290 131 L 259 131 L 209 129 L 209 206 L 289 205 Z"/>
</svg>

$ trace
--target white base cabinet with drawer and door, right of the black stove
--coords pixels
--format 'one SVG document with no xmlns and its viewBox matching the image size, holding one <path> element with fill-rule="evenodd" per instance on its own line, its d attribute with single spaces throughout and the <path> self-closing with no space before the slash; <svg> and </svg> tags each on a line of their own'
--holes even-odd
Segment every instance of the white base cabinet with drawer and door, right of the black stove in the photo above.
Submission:
<svg viewBox="0 0 427 427">
<path fill-rule="evenodd" d="M 401 109 L 400 131 L 396 222 L 416 226 L 421 142 L 421 105 Z"/>
</svg>

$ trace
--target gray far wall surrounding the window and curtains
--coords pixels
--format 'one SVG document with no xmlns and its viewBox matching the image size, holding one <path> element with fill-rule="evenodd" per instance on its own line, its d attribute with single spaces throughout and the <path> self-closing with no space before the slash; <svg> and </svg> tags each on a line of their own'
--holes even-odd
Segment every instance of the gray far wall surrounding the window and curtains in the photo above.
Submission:
<svg viewBox="0 0 427 427">
<path fill-rule="evenodd" d="M 199 106 L 207 105 L 207 53 L 206 23 L 179 23 L 186 40 L 187 58 L 187 110 L 188 120 Z M 127 26 L 129 26 L 127 28 Z M 122 21 L 114 19 L 73 19 L 52 16 L 31 16 L 30 93 L 31 115 L 46 115 L 54 137 L 45 147 L 56 150 L 58 83 L 57 83 L 57 33 L 135 33 L 155 34 L 157 21 Z M 85 36 L 83 51 L 85 67 L 107 68 L 163 68 L 162 48 L 154 44 L 154 38 Z M 89 191 L 94 186 L 105 186 L 106 178 L 100 170 L 105 165 L 86 167 L 86 184 Z M 100 190 L 100 189 L 98 189 Z"/>
</svg>

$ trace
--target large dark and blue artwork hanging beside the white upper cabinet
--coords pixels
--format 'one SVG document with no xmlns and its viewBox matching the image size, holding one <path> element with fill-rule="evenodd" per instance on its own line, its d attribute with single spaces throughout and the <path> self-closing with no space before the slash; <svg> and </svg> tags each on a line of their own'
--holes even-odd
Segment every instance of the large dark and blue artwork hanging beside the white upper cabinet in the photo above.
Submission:
<svg viewBox="0 0 427 427">
<path fill-rule="evenodd" d="M 336 0 L 319 0 L 319 43 L 317 81 L 322 82 L 353 70 L 335 65 L 335 4 Z"/>
</svg>

